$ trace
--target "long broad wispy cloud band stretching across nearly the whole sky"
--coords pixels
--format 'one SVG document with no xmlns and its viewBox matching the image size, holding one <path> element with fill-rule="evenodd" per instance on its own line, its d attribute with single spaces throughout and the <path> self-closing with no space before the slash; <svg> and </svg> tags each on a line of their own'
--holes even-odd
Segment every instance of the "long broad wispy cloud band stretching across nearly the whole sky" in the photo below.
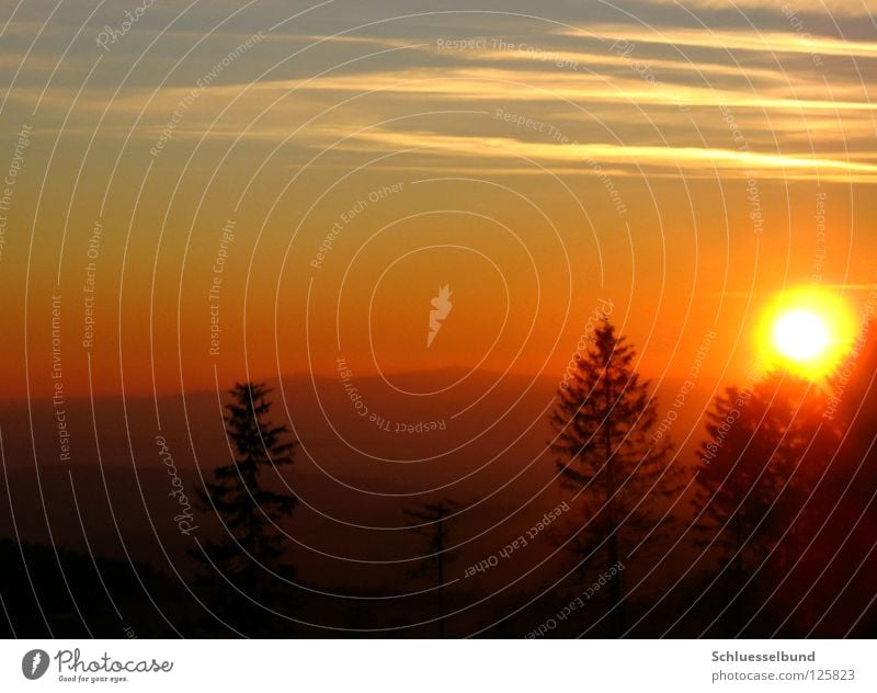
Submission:
<svg viewBox="0 0 877 693">
<path fill-rule="evenodd" d="M 874 158 L 872 143 L 877 103 L 867 98 L 856 99 L 861 86 L 836 87 L 845 100 L 827 99 L 824 90 L 820 92 L 818 86 L 808 87 L 806 82 L 791 90 L 779 84 L 759 91 L 744 87 L 718 89 L 709 84 L 686 86 L 669 81 L 648 83 L 633 71 L 629 77 L 615 75 L 610 78 L 601 73 L 558 70 L 522 73 L 488 66 L 328 75 L 318 79 L 210 86 L 200 91 L 195 103 L 185 110 L 173 137 L 202 138 L 209 130 L 212 138 L 242 136 L 278 141 L 315 118 L 296 135 L 296 144 L 307 145 L 321 127 L 354 132 L 364 122 L 378 123 L 400 113 L 410 117 L 421 117 L 417 115 L 419 112 L 443 109 L 491 113 L 502 106 L 534 118 L 543 124 L 543 129 L 549 126 L 562 128 L 566 135 L 580 141 L 594 139 L 594 126 L 597 126 L 596 132 L 615 133 L 612 137 L 639 147 L 638 151 L 649 162 L 656 161 L 658 154 L 643 147 L 652 144 L 656 133 L 660 133 L 660 139 L 672 145 L 673 156 L 682 156 L 686 166 L 692 162 L 704 166 L 704 161 L 711 157 L 721 170 L 760 166 L 776 170 L 786 167 L 796 171 L 819 168 L 859 177 L 873 173 L 868 162 Z M 798 89 L 806 90 L 806 95 L 787 95 Z M 91 114 L 106 105 L 110 93 L 105 89 L 83 90 L 67 130 L 88 132 Z M 110 105 L 103 134 L 127 133 L 137 116 L 140 121 L 135 136 L 155 139 L 182 100 L 191 93 L 190 88 L 164 88 L 157 92 L 145 88 L 126 90 Z M 42 107 L 66 112 L 75 95 L 72 89 L 53 89 L 46 94 Z M 32 88 L 15 90 L 11 99 L 33 104 L 38 96 L 39 90 Z M 680 102 L 690 110 L 680 112 Z M 412 103 L 418 107 L 412 110 Z M 784 154 L 785 150 L 800 152 L 816 148 L 819 156 L 825 157 L 825 162 L 815 163 L 811 158 L 799 154 L 778 158 L 776 155 L 747 158 L 745 152 L 742 157 L 722 154 L 728 147 L 733 149 L 738 146 L 733 144 L 729 123 L 722 117 L 722 107 L 732 115 L 753 150 Z M 220 113 L 223 115 L 217 120 Z M 487 128 L 500 135 L 514 129 L 514 125 L 500 124 L 492 115 L 489 118 L 480 124 L 471 121 L 470 125 L 477 132 Z M 449 117 L 431 120 L 430 127 L 436 130 L 431 137 L 459 134 L 459 123 Z M 525 130 L 515 133 L 514 137 L 534 139 L 533 133 Z M 471 141 L 465 144 L 471 145 Z M 715 156 L 703 154 L 705 144 L 706 150 L 715 151 Z M 835 150 L 840 150 L 841 145 L 846 150 L 840 159 L 825 155 L 832 144 Z M 663 152 L 663 148 L 659 149 Z M 557 160 L 555 151 L 542 148 L 538 154 Z M 597 154 L 605 156 L 603 151 Z M 665 160 L 667 157 L 662 159 Z"/>
</svg>

